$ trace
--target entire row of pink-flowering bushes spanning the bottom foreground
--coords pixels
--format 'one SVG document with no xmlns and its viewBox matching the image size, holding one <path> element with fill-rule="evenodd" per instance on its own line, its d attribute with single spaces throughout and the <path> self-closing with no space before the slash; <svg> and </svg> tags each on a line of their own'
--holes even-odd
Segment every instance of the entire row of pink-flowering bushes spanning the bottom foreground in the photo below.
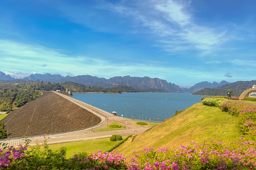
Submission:
<svg viewBox="0 0 256 170">
<path fill-rule="evenodd" d="M 237 142 L 204 142 L 197 145 L 191 141 L 189 146 L 177 149 L 144 148 L 139 154 L 134 152 L 131 162 L 118 151 L 102 153 L 100 150 L 79 152 L 70 159 L 64 155 L 66 150 L 52 152 L 45 139 L 42 144 L 19 149 L 9 148 L 0 153 L 2 169 L 255 169 L 256 143 L 241 138 Z M 40 149 L 43 146 L 44 149 Z"/>
</svg>

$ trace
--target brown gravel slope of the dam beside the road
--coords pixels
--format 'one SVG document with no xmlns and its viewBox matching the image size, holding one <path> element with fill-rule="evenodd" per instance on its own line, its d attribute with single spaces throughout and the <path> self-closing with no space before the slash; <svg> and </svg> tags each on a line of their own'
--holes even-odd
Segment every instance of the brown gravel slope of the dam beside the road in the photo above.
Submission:
<svg viewBox="0 0 256 170">
<path fill-rule="evenodd" d="M 100 117 L 54 94 L 44 92 L 38 99 L 22 106 L 9 115 L 9 137 L 66 132 L 88 128 L 100 123 Z M 7 130 L 6 116 L 1 122 Z"/>
</svg>

